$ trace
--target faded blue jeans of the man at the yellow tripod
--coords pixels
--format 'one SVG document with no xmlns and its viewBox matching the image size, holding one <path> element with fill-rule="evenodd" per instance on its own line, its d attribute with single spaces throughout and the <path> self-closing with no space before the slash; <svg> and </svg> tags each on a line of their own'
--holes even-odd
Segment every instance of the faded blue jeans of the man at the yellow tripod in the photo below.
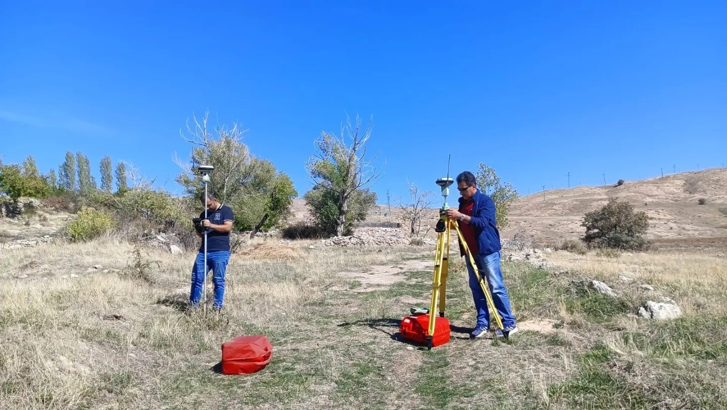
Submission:
<svg viewBox="0 0 727 410">
<path fill-rule="evenodd" d="M 487 279 L 489 284 L 492 302 L 494 303 L 497 313 L 502 317 L 502 326 L 508 327 L 515 324 L 512 308 L 510 307 L 510 298 L 507 296 L 507 289 L 502 282 L 502 271 L 500 270 L 500 253 L 491 253 L 490 255 L 473 255 L 477 270 L 480 276 Z M 477 276 L 470 263 L 470 258 L 465 255 L 467 263 L 467 271 L 470 272 L 470 289 L 475 300 L 475 309 L 477 310 L 477 327 L 489 327 L 490 312 L 487 308 L 487 299 L 482 290 Z"/>
</svg>

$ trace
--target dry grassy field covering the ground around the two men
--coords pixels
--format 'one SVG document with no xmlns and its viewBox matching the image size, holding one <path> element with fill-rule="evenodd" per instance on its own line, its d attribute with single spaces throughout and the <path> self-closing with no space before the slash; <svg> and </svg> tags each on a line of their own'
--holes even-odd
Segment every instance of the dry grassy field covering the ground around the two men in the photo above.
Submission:
<svg viewBox="0 0 727 410">
<path fill-rule="evenodd" d="M 453 338 L 427 352 L 395 333 L 409 307 L 428 304 L 431 271 L 409 260 L 428 261 L 432 250 L 309 249 L 314 243 L 264 241 L 233 255 L 220 315 L 187 308 L 194 253 L 149 250 L 144 258 L 158 268 L 142 282 L 124 272 L 132 246 L 113 238 L 4 252 L 0 408 L 718 409 L 726 403 L 724 258 L 549 254 L 565 274 L 505 263 L 515 315 L 529 329 L 507 342 L 467 340 L 473 304 L 464 265 L 453 260 L 447 304 Z M 388 270 L 371 268 L 379 265 Z M 391 266 L 419 268 L 363 289 L 362 277 L 390 275 Z M 623 271 L 637 280 L 617 282 Z M 28 277 L 17 279 L 20 272 Z M 631 319 L 614 300 L 572 292 L 571 279 L 583 276 L 612 284 L 628 309 L 642 298 L 669 295 L 686 317 Z M 641 282 L 656 294 L 639 293 Z M 208 300 L 211 290 L 210 284 Z M 221 343 L 251 334 L 273 343 L 270 366 L 249 377 L 215 373 Z"/>
</svg>

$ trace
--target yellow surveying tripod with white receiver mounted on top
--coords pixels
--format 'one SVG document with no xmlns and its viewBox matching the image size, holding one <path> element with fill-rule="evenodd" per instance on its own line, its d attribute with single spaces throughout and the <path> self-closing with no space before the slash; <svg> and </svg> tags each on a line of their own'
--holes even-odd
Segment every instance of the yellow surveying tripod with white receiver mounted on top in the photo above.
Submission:
<svg viewBox="0 0 727 410">
<path fill-rule="evenodd" d="M 506 339 L 508 336 L 508 333 L 505 332 L 505 328 L 502 326 L 502 319 L 500 318 L 499 313 L 497 313 L 497 309 L 492 302 L 492 295 L 490 294 L 490 289 L 488 284 L 486 283 L 486 279 L 484 279 L 483 276 L 480 275 L 477 263 L 475 263 L 475 258 L 470 252 L 470 248 L 467 247 L 467 241 L 465 241 L 465 238 L 462 236 L 462 231 L 459 230 L 459 225 L 457 224 L 457 221 L 454 221 L 446 216 L 446 210 L 448 208 L 446 197 L 447 195 L 449 195 L 449 186 L 453 182 L 454 181 L 449 178 L 449 176 L 447 178 L 441 178 L 437 180 L 437 185 L 441 186 L 442 188 L 442 196 L 445 197 L 445 202 L 442 205 L 442 208 L 439 210 L 439 220 L 437 221 L 437 226 L 435 227 L 435 231 L 437 232 L 437 245 L 434 253 L 432 302 L 429 307 L 429 336 L 427 336 L 427 344 L 430 349 L 432 348 L 432 335 L 434 334 L 434 311 L 437 306 L 439 306 L 439 316 L 444 317 L 444 306 L 446 304 L 447 274 L 449 273 L 449 239 L 451 238 L 452 226 L 454 226 L 454 229 L 457 231 L 459 243 L 462 244 L 462 247 L 465 250 L 465 255 L 469 259 L 470 264 L 475 271 L 477 282 L 482 287 L 485 298 L 487 300 L 487 306 L 489 306 L 490 310 L 492 311 L 492 316 L 494 316 L 495 321 L 497 322 L 497 327 L 499 327 L 499 329 L 502 331 L 502 335 L 505 336 Z"/>
</svg>

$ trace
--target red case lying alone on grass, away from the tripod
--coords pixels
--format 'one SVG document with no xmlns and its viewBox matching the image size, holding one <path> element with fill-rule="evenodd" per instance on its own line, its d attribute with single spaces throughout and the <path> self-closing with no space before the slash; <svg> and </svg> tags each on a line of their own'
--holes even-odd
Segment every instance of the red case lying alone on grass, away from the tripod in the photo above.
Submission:
<svg viewBox="0 0 727 410">
<path fill-rule="evenodd" d="M 260 372 L 270 363 L 273 345 L 262 335 L 240 336 L 222 343 L 222 373 L 249 374 Z"/>
</svg>

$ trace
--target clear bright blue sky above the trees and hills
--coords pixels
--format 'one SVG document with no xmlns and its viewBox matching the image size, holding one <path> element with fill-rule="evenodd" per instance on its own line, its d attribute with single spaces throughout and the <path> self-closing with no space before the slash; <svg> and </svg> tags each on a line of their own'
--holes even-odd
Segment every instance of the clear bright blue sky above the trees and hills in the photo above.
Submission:
<svg viewBox="0 0 727 410">
<path fill-rule="evenodd" d="M 725 1 L 100 3 L 0 0 L 6 163 L 111 155 L 181 192 L 208 109 L 301 195 L 321 131 L 373 115 L 379 203 L 449 154 L 521 194 L 727 162 Z"/>
</svg>

